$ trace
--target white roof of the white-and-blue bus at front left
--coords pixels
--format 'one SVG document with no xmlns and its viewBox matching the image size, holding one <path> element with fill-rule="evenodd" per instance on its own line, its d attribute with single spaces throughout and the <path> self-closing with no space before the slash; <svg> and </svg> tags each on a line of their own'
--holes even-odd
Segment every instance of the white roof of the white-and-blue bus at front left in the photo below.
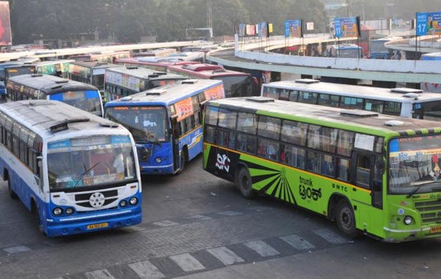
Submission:
<svg viewBox="0 0 441 279">
<path fill-rule="evenodd" d="M 42 138 L 79 134 L 79 131 L 84 136 L 90 134 L 92 129 L 99 129 L 101 134 L 128 134 L 121 125 L 60 101 L 14 101 L 1 104 L 0 111 L 19 120 L 23 126 Z"/>
</svg>

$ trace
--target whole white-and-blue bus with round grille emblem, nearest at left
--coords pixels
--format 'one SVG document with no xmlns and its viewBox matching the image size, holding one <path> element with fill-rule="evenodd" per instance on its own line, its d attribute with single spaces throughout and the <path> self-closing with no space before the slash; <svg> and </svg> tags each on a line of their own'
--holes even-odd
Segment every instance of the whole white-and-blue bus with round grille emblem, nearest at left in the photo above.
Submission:
<svg viewBox="0 0 441 279">
<path fill-rule="evenodd" d="M 0 174 L 47 236 L 141 223 L 130 132 L 65 103 L 0 105 Z"/>
</svg>

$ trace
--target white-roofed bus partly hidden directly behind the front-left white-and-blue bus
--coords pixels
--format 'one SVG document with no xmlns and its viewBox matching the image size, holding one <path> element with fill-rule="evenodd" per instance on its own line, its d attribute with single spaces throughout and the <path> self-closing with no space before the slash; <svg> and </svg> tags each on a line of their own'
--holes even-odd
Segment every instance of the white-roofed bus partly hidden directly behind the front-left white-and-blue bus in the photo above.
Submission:
<svg viewBox="0 0 441 279">
<path fill-rule="evenodd" d="M 68 103 L 81 110 L 103 116 L 103 101 L 98 89 L 90 84 L 48 74 L 23 74 L 6 82 L 12 101 L 48 99 Z"/>
</svg>

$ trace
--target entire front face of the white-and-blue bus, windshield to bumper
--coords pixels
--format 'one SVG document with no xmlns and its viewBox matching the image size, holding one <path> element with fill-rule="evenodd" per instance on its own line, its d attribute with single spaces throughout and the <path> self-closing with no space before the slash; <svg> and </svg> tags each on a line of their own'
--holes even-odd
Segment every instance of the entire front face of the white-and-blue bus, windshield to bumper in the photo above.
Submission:
<svg viewBox="0 0 441 279">
<path fill-rule="evenodd" d="M 141 223 L 135 152 L 127 134 L 49 142 L 43 149 L 45 192 L 50 193 L 42 220 L 46 234 L 62 236 Z"/>
</svg>

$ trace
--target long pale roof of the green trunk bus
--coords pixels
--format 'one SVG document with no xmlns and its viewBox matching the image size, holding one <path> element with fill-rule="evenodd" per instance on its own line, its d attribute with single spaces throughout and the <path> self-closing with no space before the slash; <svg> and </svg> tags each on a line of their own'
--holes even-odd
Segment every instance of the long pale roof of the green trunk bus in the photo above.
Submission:
<svg viewBox="0 0 441 279">
<path fill-rule="evenodd" d="M 441 130 L 441 122 L 401 116 L 391 116 L 364 110 L 345 110 L 306 103 L 293 103 L 265 97 L 240 97 L 209 101 L 207 105 L 275 116 L 329 127 L 376 135 L 407 135 L 409 130 Z M 418 132 L 416 133 L 418 134 Z"/>
</svg>

